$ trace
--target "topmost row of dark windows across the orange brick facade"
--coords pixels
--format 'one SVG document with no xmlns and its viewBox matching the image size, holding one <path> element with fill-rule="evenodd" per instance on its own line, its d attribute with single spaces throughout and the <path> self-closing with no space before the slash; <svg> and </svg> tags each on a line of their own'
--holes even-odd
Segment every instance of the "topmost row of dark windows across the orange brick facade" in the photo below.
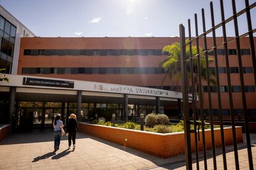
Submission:
<svg viewBox="0 0 256 170">
<path fill-rule="evenodd" d="M 224 55 L 224 49 L 218 49 L 218 55 Z M 229 49 L 229 55 L 236 55 L 236 49 Z M 250 49 L 241 49 L 242 55 L 250 55 Z M 161 49 L 25 49 L 24 55 L 168 55 Z M 213 55 L 213 52 L 209 52 Z"/>
</svg>

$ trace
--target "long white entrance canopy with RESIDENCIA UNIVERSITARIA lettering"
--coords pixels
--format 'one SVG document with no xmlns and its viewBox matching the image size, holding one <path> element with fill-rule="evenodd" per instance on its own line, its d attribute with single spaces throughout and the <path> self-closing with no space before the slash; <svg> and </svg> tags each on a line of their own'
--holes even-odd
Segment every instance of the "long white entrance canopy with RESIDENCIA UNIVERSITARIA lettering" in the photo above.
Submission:
<svg viewBox="0 0 256 170">
<path fill-rule="evenodd" d="M 72 79 L 43 78 L 38 76 L 7 75 L 10 83 L 0 82 L 1 96 L 9 98 L 10 87 L 16 87 L 16 100 L 76 102 L 77 91 L 82 91 L 82 102 L 123 103 L 127 94 L 129 103 L 155 104 L 159 97 L 161 104 L 170 105 L 182 99 L 181 92 L 147 87 L 98 83 Z"/>
</svg>

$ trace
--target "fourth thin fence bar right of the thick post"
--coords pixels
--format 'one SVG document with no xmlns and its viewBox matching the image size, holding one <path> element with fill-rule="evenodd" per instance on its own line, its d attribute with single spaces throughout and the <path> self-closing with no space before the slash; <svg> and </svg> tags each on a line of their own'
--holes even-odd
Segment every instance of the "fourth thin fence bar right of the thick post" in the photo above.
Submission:
<svg viewBox="0 0 256 170">
<path fill-rule="evenodd" d="M 211 8 L 211 27 L 213 28 L 213 51 L 215 57 L 215 73 L 217 79 L 217 89 L 218 91 L 218 99 L 220 98 L 220 78 L 219 78 L 219 69 L 218 69 L 218 57 L 217 57 L 217 48 L 216 48 L 216 34 L 215 34 L 215 21 L 214 21 L 214 12 L 213 12 L 213 2 L 210 2 Z M 218 100 L 220 102 L 220 100 Z M 213 130 L 213 112 L 210 113 L 210 124 L 211 124 L 211 144 L 213 145 L 213 167 L 217 169 L 216 165 L 216 151 L 215 151 L 215 138 L 214 138 L 214 130 Z"/>
</svg>

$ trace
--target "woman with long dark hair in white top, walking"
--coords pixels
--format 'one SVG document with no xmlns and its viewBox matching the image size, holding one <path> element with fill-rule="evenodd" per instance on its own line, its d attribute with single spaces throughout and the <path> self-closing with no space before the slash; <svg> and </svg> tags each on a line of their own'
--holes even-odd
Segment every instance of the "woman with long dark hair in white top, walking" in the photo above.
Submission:
<svg viewBox="0 0 256 170">
<path fill-rule="evenodd" d="M 61 128 L 63 127 L 63 122 L 61 121 L 61 116 L 57 115 L 54 123 L 54 152 L 59 150 L 59 144 L 61 144 Z"/>
</svg>

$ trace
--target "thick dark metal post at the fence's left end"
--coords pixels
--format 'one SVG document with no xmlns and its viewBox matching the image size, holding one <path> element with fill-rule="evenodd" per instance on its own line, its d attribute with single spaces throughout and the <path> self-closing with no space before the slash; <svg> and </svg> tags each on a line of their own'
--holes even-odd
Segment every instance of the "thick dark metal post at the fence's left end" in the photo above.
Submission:
<svg viewBox="0 0 256 170">
<path fill-rule="evenodd" d="M 189 123 L 189 92 L 187 88 L 187 62 L 186 62 L 186 42 L 185 42 L 185 28 L 179 25 L 179 36 L 181 38 L 181 73 L 182 73 L 182 100 L 184 113 L 184 134 L 185 134 L 185 155 L 186 168 L 192 169 L 192 155 L 190 145 L 190 123 Z"/>
</svg>

